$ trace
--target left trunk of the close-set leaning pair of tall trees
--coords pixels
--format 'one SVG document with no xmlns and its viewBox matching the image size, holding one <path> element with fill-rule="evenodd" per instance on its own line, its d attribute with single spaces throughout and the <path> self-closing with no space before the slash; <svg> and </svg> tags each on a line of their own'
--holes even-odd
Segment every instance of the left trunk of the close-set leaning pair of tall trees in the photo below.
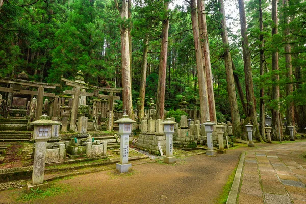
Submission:
<svg viewBox="0 0 306 204">
<path fill-rule="evenodd" d="M 200 44 L 200 35 L 198 27 L 198 18 L 196 13 L 196 2 L 195 0 L 190 1 L 191 6 L 191 22 L 192 22 L 192 32 L 194 38 L 194 48 L 195 48 L 195 61 L 196 68 L 198 72 L 198 82 L 199 82 L 199 96 L 200 96 L 200 112 L 201 112 L 201 123 L 205 123 L 210 119 L 209 115 L 209 104 L 207 95 L 207 83 L 206 75 L 203 66 L 203 56 Z"/>
</svg>

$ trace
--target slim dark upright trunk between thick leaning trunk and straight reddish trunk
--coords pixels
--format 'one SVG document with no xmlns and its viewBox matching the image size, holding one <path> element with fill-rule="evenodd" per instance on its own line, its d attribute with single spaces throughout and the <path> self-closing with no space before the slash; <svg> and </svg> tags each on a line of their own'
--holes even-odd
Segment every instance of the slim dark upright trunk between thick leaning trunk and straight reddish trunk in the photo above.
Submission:
<svg viewBox="0 0 306 204">
<path fill-rule="evenodd" d="M 260 58 L 260 75 L 264 75 L 264 69 L 265 69 L 265 55 L 264 55 L 264 24 L 263 24 L 263 11 L 262 11 L 262 2 L 259 0 L 259 30 L 261 32 L 259 36 L 260 40 L 260 53 L 259 53 L 259 58 Z M 260 89 L 260 101 L 259 101 L 259 132 L 262 137 L 265 137 L 265 89 L 262 87 Z"/>
</svg>

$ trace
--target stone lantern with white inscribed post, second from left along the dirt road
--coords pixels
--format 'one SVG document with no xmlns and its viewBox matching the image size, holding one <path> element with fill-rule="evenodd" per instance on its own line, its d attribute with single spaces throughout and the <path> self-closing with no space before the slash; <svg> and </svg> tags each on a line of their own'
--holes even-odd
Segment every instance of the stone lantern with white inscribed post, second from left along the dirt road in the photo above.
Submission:
<svg viewBox="0 0 306 204">
<path fill-rule="evenodd" d="M 114 122 L 119 124 L 119 134 L 121 136 L 120 162 L 116 164 L 116 169 L 120 173 L 125 173 L 132 167 L 132 164 L 128 164 L 127 162 L 129 162 L 129 135 L 132 132 L 132 123 L 135 122 L 126 113 L 124 113 L 121 119 Z"/>
</svg>

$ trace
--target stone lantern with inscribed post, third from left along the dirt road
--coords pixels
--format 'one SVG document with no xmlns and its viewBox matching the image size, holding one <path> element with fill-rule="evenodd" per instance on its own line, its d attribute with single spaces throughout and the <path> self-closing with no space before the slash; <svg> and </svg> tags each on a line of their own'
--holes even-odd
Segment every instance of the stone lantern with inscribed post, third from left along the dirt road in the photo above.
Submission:
<svg viewBox="0 0 306 204">
<path fill-rule="evenodd" d="M 166 134 L 166 156 L 164 156 L 164 162 L 172 164 L 176 162 L 176 158 L 173 157 L 173 133 L 174 125 L 178 123 L 172 121 L 171 118 L 167 118 L 166 121 L 160 124 L 164 125 L 164 132 Z"/>
</svg>

